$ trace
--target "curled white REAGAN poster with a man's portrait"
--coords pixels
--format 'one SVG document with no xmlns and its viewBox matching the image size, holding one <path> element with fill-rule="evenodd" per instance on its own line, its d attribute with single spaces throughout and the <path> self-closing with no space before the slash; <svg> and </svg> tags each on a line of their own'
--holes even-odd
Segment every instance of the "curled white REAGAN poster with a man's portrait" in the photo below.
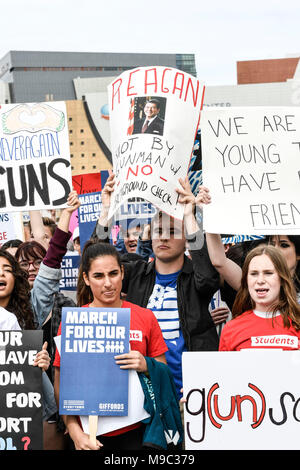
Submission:
<svg viewBox="0 0 300 470">
<path fill-rule="evenodd" d="M 108 93 L 116 175 L 109 217 L 125 200 L 141 197 L 182 219 L 176 188 L 188 173 L 203 85 L 177 69 L 140 67 L 122 73 Z"/>
</svg>

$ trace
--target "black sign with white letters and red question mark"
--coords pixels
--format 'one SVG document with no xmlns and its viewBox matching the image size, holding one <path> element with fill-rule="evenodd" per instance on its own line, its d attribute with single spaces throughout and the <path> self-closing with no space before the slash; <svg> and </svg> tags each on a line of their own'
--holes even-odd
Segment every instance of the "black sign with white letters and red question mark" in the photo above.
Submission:
<svg viewBox="0 0 300 470">
<path fill-rule="evenodd" d="M 0 450 L 42 450 L 42 331 L 0 331 Z"/>
</svg>

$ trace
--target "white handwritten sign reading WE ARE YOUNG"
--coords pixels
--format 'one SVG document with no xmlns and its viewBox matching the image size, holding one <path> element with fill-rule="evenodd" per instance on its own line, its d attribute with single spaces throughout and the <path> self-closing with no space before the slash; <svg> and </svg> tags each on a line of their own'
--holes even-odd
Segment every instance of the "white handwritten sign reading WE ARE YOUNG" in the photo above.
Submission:
<svg viewBox="0 0 300 470">
<path fill-rule="evenodd" d="M 205 109 L 204 229 L 237 235 L 300 234 L 300 111 Z"/>
</svg>

